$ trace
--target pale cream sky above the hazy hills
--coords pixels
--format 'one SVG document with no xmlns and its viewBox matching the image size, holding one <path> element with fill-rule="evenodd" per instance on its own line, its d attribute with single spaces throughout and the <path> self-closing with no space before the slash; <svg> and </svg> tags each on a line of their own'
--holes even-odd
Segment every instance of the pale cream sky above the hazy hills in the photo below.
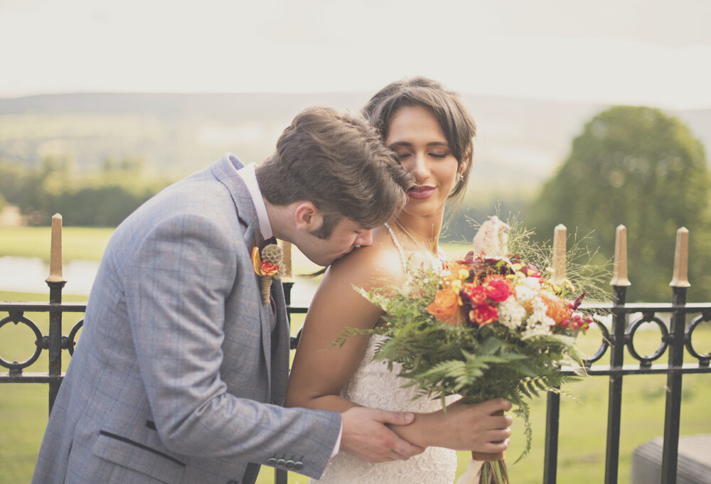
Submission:
<svg viewBox="0 0 711 484">
<path fill-rule="evenodd" d="M 0 97 L 461 93 L 711 108 L 710 0 L 0 0 Z"/>
</svg>

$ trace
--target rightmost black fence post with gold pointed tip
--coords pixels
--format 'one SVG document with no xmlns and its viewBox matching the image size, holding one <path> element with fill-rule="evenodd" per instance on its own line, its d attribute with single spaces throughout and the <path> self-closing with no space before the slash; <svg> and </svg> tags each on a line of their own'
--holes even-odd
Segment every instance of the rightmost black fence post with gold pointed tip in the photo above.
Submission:
<svg viewBox="0 0 711 484">
<path fill-rule="evenodd" d="M 669 285 L 672 287 L 672 306 L 675 308 L 671 316 L 671 328 L 668 338 L 669 366 L 667 373 L 667 394 L 664 411 L 664 446 L 662 451 L 662 484 L 676 483 L 677 461 L 679 454 L 679 424 L 681 414 L 681 367 L 684 362 L 684 330 L 686 326 L 686 290 L 688 281 L 688 247 L 689 231 L 681 227 L 676 232 L 676 247 L 674 252 L 674 273 Z"/>
</svg>

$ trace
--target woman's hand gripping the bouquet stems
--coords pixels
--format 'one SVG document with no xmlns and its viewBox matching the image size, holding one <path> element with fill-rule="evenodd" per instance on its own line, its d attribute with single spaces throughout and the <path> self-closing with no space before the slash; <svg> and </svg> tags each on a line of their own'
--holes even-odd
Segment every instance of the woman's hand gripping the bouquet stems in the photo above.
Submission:
<svg viewBox="0 0 711 484">
<path fill-rule="evenodd" d="M 449 404 L 432 422 L 432 445 L 456 451 L 499 453 L 508 447 L 513 419 L 508 412 L 512 405 L 504 399 L 488 400 L 480 404 L 465 404 L 463 400 Z"/>
</svg>

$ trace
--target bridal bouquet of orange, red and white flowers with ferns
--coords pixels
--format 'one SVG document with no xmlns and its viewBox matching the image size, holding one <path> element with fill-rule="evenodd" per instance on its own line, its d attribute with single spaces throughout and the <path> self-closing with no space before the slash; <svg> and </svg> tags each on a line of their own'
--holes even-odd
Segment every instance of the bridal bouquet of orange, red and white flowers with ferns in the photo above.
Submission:
<svg viewBox="0 0 711 484">
<path fill-rule="evenodd" d="M 552 269 L 541 271 L 517 254 L 490 255 L 506 252 L 499 230 L 508 226 L 494 225 L 493 241 L 475 239 L 464 259 L 411 269 L 402 287 L 360 292 L 386 313 L 385 325 L 370 330 L 388 337 L 375 357 L 390 370 L 398 363 L 400 377 L 410 380 L 405 386 L 417 385 L 422 397 L 443 405 L 453 394 L 470 403 L 508 399 L 525 424 L 522 458 L 532 437 L 527 400 L 576 379 L 560 366 L 582 366 L 575 337 L 592 318 L 579 312 L 584 293 L 567 279 L 554 283 Z M 473 458 L 486 461 L 481 483 L 508 483 L 503 454 Z"/>
</svg>

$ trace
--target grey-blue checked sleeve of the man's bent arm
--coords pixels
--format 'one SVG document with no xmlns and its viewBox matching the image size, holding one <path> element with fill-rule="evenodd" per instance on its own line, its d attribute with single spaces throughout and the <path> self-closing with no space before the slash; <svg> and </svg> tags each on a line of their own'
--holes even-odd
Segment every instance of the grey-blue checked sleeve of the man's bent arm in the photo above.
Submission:
<svg viewBox="0 0 711 484">
<path fill-rule="evenodd" d="M 318 477 L 340 416 L 237 398 L 220 377 L 225 324 L 240 323 L 225 321 L 225 300 L 245 274 L 254 278 L 238 270 L 247 261 L 237 259 L 235 237 L 210 217 L 173 215 L 119 270 L 156 428 L 171 451 L 267 464 L 293 455 L 304 463 L 299 473 Z"/>
</svg>

